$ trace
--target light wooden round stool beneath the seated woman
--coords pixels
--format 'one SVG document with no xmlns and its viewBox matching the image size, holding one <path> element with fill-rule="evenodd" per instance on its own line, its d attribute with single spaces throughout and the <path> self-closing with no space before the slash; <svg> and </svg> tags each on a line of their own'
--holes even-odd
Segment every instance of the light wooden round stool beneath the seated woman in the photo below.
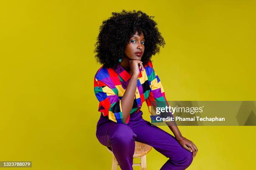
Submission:
<svg viewBox="0 0 256 170">
<path fill-rule="evenodd" d="M 141 166 L 141 170 L 146 170 L 147 169 L 146 154 L 149 153 L 151 149 L 152 149 L 152 146 L 149 146 L 146 143 L 135 141 L 135 150 L 134 150 L 133 158 L 141 158 L 141 163 L 134 163 L 133 166 Z M 113 152 L 108 147 L 107 147 L 107 150 L 113 155 L 111 170 L 117 170 L 117 166 L 119 165 L 118 161 L 116 160 Z"/>
</svg>

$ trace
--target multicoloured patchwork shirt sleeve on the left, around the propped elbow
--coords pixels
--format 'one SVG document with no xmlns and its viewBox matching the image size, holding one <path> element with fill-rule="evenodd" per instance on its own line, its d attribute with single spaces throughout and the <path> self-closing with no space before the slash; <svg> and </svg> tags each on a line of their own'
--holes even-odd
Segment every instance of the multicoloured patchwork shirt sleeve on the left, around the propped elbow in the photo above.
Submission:
<svg viewBox="0 0 256 170">
<path fill-rule="evenodd" d="M 117 89 L 114 90 L 104 82 L 94 78 L 94 92 L 100 102 L 98 111 L 102 112 L 104 116 L 108 116 L 108 119 L 113 122 L 127 124 L 129 122 L 130 114 L 128 115 L 126 122 L 123 122 L 121 100 L 118 97 Z"/>
</svg>

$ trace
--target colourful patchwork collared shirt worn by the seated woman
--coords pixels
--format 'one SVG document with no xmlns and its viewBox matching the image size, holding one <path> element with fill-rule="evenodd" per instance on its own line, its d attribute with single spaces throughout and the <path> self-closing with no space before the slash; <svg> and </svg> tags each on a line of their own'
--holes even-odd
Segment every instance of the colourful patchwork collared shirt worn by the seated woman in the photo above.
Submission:
<svg viewBox="0 0 256 170">
<path fill-rule="evenodd" d="M 156 117 L 161 117 L 161 115 L 152 115 L 151 106 L 152 103 L 154 104 L 154 102 L 157 101 L 163 101 L 168 105 L 164 88 L 160 82 L 159 76 L 156 75 L 154 71 L 152 62 L 148 62 L 144 68 L 143 71 L 140 69 L 130 114 L 138 113 L 141 110 L 143 102 L 146 101 L 151 116 L 151 122 L 163 122 L 156 121 Z M 121 67 L 120 64 L 115 69 L 104 68 L 102 66 L 97 71 L 94 78 L 94 92 L 100 102 L 98 111 L 102 112 L 104 116 L 108 116 L 109 120 L 125 124 L 129 122 L 130 114 L 126 122 L 123 122 L 120 100 L 125 93 L 130 78 L 131 75 Z"/>
</svg>

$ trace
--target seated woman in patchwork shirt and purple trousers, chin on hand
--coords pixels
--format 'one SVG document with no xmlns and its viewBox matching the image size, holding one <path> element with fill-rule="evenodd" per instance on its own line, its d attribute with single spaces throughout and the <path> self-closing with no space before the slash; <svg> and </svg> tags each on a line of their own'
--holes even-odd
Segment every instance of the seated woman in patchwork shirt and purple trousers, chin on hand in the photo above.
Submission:
<svg viewBox="0 0 256 170">
<path fill-rule="evenodd" d="M 177 126 L 169 124 L 174 137 L 142 117 L 144 101 L 150 114 L 152 103 L 167 103 L 151 62 L 152 55 L 165 45 L 153 18 L 135 10 L 112 13 L 100 26 L 95 44 L 95 57 L 103 64 L 94 79 L 101 112 L 96 136 L 113 151 L 122 170 L 133 169 L 135 140 L 169 158 L 161 170 L 184 170 L 197 154 L 195 144 Z M 155 115 L 151 119 L 156 120 Z"/>
</svg>

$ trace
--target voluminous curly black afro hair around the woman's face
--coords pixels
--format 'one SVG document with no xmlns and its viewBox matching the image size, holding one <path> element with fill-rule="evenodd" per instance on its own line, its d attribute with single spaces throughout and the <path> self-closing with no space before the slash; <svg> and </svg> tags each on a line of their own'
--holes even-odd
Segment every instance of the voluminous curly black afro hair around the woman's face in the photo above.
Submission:
<svg viewBox="0 0 256 170">
<path fill-rule="evenodd" d="M 125 45 L 132 35 L 143 32 L 145 38 L 145 50 L 141 61 L 147 64 L 152 55 L 159 53 L 160 47 L 164 47 L 165 41 L 161 36 L 154 16 L 138 10 L 112 13 L 108 20 L 104 20 L 100 26 L 100 33 L 95 44 L 95 57 L 97 62 L 103 67 L 114 68 L 118 65 L 118 60 L 124 57 Z"/>
</svg>

